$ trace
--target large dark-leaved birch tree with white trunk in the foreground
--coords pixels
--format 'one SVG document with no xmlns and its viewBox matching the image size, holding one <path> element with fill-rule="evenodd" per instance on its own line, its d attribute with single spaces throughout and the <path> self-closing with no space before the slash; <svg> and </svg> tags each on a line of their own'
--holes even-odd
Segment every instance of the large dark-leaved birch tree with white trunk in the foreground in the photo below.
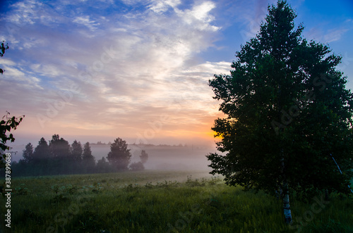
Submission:
<svg viewBox="0 0 353 233">
<path fill-rule="evenodd" d="M 353 97 L 335 69 L 341 57 L 303 39 L 296 17 L 287 1 L 269 6 L 231 74 L 209 81 L 227 115 L 213 127 L 222 153 L 207 156 L 211 173 L 246 190 L 278 191 L 287 223 L 290 190 L 349 193 L 353 162 Z"/>
</svg>

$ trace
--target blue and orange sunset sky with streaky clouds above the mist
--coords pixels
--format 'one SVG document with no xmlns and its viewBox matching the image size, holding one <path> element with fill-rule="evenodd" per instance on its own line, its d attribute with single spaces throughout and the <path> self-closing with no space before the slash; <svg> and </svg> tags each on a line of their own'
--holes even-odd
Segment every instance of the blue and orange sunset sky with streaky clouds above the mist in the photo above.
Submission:
<svg viewBox="0 0 353 233">
<path fill-rule="evenodd" d="M 272 0 L 1 1 L 0 111 L 25 115 L 18 144 L 214 143 L 220 102 L 208 80 L 229 74 Z M 288 1 L 303 37 L 342 56 L 353 89 L 353 2 Z"/>
</svg>

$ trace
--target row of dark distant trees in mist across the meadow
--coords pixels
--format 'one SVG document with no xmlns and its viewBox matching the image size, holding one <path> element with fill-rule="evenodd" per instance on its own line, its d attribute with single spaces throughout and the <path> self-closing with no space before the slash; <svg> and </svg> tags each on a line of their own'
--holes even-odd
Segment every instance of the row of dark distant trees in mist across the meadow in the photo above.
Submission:
<svg viewBox="0 0 353 233">
<path fill-rule="evenodd" d="M 143 164 L 148 160 L 145 151 L 141 151 L 140 162 L 130 163 L 131 152 L 127 149 L 126 141 L 117 138 L 109 146 L 107 158 L 103 157 L 96 163 L 89 142 L 82 146 L 80 141 L 75 140 L 70 145 L 54 134 L 47 143 L 42 137 L 35 148 L 30 143 L 25 146 L 23 158 L 11 165 L 12 175 L 65 175 L 144 169 Z"/>
</svg>

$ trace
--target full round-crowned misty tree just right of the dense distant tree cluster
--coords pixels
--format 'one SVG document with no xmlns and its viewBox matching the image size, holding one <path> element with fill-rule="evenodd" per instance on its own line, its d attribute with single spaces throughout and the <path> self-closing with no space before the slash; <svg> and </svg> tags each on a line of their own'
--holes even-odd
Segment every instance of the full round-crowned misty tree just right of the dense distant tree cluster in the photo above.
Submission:
<svg viewBox="0 0 353 233">
<path fill-rule="evenodd" d="M 108 153 L 107 159 L 117 170 L 127 170 L 131 159 L 131 153 L 126 141 L 119 137 L 115 139 L 110 145 L 110 152 Z"/>
</svg>

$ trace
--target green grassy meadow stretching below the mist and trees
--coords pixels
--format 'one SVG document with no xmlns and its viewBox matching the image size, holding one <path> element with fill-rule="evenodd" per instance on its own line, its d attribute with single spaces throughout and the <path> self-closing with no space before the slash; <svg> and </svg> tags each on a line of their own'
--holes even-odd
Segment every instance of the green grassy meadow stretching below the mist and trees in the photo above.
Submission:
<svg viewBox="0 0 353 233">
<path fill-rule="evenodd" d="M 25 177 L 12 188 L 11 231 L 2 220 L 4 232 L 353 232 L 347 196 L 292 199 L 288 227 L 280 200 L 227 187 L 207 172 Z"/>
</svg>

